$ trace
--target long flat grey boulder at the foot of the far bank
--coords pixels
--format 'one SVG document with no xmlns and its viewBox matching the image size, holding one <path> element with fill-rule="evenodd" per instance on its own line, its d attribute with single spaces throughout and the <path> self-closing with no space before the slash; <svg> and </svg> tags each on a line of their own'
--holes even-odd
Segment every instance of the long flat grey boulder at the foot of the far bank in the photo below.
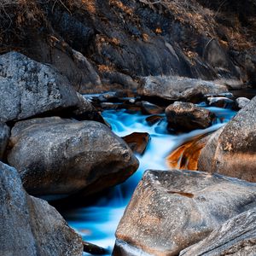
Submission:
<svg viewBox="0 0 256 256">
<path fill-rule="evenodd" d="M 200 102 L 208 94 L 228 92 L 224 85 L 182 77 L 145 77 L 138 93 L 171 101 Z"/>
</svg>

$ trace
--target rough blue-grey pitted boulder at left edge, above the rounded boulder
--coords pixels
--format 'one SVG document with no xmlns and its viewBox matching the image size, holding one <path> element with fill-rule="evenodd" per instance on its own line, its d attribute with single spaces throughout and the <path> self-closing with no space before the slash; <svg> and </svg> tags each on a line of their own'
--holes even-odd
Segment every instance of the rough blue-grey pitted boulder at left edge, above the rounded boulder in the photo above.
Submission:
<svg viewBox="0 0 256 256">
<path fill-rule="evenodd" d="M 52 67 L 10 52 L 0 56 L 0 121 L 26 119 L 76 106 L 78 97 Z"/>
</svg>

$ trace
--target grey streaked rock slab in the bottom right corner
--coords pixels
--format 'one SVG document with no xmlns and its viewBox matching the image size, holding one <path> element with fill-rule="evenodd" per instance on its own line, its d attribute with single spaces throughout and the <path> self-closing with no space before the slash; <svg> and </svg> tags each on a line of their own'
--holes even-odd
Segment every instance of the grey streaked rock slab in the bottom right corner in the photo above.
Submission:
<svg viewBox="0 0 256 256">
<path fill-rule="evenodd" d="M 256 253 L 256 208 L 230 218 L 203 241 L 179 255 L 254 255 Z"/>
</svg>

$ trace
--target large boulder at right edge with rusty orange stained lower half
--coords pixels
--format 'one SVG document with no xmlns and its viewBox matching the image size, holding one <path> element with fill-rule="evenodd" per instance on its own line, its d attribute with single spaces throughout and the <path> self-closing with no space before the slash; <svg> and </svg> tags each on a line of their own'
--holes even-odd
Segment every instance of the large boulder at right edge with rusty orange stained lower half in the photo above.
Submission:
<svg viewBox="0 0 256 256">
<path fill-rule="evenodd" d="M 198 168 L 256 182 L 256 97 L 203 148 Z"/>
</svg>

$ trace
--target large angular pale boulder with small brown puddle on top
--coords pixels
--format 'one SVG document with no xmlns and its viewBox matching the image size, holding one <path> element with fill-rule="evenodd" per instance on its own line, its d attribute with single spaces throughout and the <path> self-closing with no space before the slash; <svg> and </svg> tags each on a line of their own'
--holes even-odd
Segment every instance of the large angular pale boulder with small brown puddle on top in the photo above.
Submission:
<svg viewBox="0 0 256 256">
<path fill-rule="evenodd" d="M 116 237 L 146 253 L 177 255 L 229 218 L 247 211 L 255 197 L 255 183 L 218 174 L 147 171 Z"/>
</svg>

